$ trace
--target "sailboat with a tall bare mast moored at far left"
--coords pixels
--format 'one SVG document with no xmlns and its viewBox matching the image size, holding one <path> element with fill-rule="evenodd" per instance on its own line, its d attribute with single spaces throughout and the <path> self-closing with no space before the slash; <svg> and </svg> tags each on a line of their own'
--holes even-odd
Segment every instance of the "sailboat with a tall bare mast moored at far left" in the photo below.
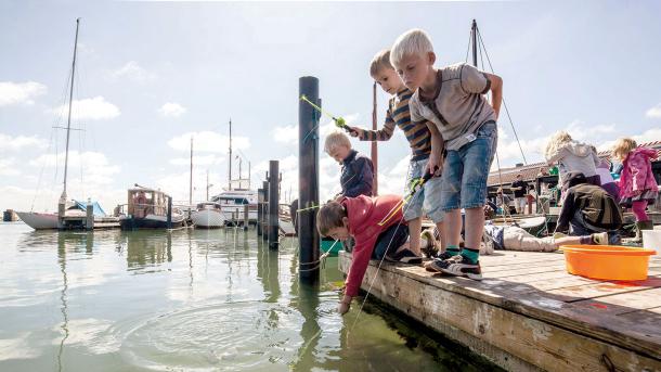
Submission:
<svg viewBox="0 0 661 372">
<path fill-rule="evenodd" d="M 68 201 L 66 194 L 66 181 L 69 159 L 69 138 L 72 132 L 72 105 L 74 101 L 74 79 L 76 77 L 76 55 L 78 51 L 78 29 L 80 18 L 76 20 L 76 38 L 74 41 L 74 60 L 72 63 L 72 79 L 69 86 L 69 103 L 66 123 L 66 150 L 64 157 L 64 181 L 62 195 L 57 203 L 57 213 L 35 213 L 35 211 L 16 211 L 18 217 L 27 226 L 35 230 L 46 229 L 81 229 L 87 227 L 87 209 L 92 208 L 94 222 L 100 222 L 103 227 L 115 227 L 116 218 L 107 217 L 98 203 L 80 203 L 77 201 Z M 118 226 L 118 225 L 117 225 Z"/>
</svg>

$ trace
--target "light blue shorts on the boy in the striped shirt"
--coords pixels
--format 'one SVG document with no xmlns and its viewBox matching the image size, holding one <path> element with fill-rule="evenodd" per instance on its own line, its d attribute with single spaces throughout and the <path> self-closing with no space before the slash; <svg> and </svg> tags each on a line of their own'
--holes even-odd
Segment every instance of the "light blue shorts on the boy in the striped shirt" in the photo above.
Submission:
<svg viewBox="0 0 661 372">
<path fill-rule="evenodd" d="M 411 192 L 411 180 L 424 176 L 428 159 L 411 161 L 406 176 L 406 195 Z M 432 177 L 404 205 L 404 220 L 411 221 L 423 216 L 423 209 L 433 223 L 443 220 L 445 213 L 441 209 L 441 177 Z"/>
</svg>

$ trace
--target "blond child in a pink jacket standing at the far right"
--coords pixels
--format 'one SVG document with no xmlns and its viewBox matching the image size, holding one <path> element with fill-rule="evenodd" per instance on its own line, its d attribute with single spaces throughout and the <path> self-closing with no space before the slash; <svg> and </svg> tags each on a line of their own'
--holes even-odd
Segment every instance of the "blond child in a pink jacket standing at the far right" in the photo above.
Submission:
<svg viewBox="0 0 661 372">
<path fill-rule="evenodd" d="M 643 241 L 640 231 L 653 229 L 645 208 L 659 195 L 659 187 L 651 166 L 651 159 L 657 157 L 657 152 L 638 147 L 636 141 L 623 138 L 613 145 L 612 155 L 622 162 L 620 204 L 632 208 L 636 217 L 636 241 L 640 242 Z"/>
</svg>

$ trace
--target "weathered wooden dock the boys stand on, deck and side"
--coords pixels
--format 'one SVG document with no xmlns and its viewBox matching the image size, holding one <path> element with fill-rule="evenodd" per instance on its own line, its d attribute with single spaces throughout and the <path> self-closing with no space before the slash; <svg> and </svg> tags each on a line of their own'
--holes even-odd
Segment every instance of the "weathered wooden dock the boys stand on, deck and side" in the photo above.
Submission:
<svg viewBox="0 0 661 372">
<path fill-rule="evenodd" d="M 345 273 L 351 254 L 340 252 Z M 510 371 L 661 371 L 661 257 L 638 282 L 567 273 L 559 253 L 496 251 L 484 280 L 373 260 L 372 296 Z M 375 277 L 376 273 L 376 277 Z"/>
</svg>

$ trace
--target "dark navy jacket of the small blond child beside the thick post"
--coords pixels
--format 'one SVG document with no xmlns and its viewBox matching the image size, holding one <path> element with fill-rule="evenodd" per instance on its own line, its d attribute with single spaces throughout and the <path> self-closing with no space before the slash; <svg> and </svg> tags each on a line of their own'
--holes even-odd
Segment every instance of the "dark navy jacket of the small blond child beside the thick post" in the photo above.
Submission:
<svg viewBox="0 0 661 372">
<path fill-rule="evenodd" d="M 342 161 L 342 175 L 339 180 L 342 196 L 372 196 L 372 184 L 374 183 L 372 161 L 367 156 L 359 154 L 358 151 L 351 150 L 349 156 Z"/>
</svg>

